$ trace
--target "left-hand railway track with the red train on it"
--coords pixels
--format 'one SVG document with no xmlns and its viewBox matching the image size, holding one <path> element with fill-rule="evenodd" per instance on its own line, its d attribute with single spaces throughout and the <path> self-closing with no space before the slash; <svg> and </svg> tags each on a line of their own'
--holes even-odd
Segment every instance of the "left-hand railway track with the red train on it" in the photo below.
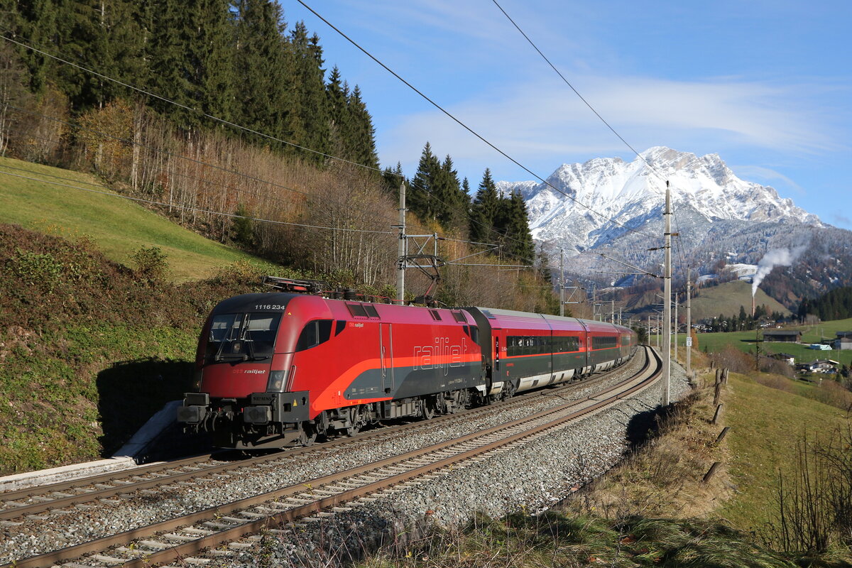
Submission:
<svg viewBox="0 0 852 568">
<path fill-rule="evenodd" d="M 346 450 L 348 446 L 376 443 L 382 439 L 399 435 L 402 432 L 423 427 L 433 427 L 435 424 L 451 420 L 469 420 L 474 416 L 506 410 L 528 404 L 530 399 L 541 396 L 561 397 L 578 388 L 593 387 L 604 382 L 613 373 L 622 368 L 594 376 L 581 382 L 544 391 L 522 394 L 498 404 L 463 410 L 446 416 L 436 416 L 429 422 L 407 422 L 396 426 L 383 427 L 352 438 L 331 439 L 321 444 L 304 448 L 294 448 L 275 452 L 265 456 L 255 456 L 239 461 L 220 461 L 215 455 L 205 454 L 192 456 L 168 463 L 157 463 L 130 471 L 103 473 L 83 479 L 30 487 L 18 491 L 0 493 L 0 524 L 15 524 L 15 519 L 40 520 L 37 515 L 53 510 L 65 510 L 77 505 L 90 502 L 108 502 L 117 496 L 128 496 L 137 491 L 169 490 L 174 485 L 185 484 L 193 479 L 204 479 L 207 476 L 232 476 L 239 474 L 237 468 L 278 468 L 286 465 L 289 460 L 303 457 L 305 454 L 326 454 Z M 463 418 L 462 418 L 463 417 Z"/>
</svg>

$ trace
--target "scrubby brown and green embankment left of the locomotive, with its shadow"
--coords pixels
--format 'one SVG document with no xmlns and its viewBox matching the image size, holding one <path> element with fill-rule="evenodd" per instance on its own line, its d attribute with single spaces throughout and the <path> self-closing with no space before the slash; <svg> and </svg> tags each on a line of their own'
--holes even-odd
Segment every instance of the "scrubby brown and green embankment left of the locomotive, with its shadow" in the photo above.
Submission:
<svg viewBox="0 0 852 568">
<path fill-rule="evenodd" d="M 187 391 L 210 309 L 259 280 L 242 263 L 173 284 L 158 262 L 0 224 L 0 475 L 111 455 Z"/>
</svg>

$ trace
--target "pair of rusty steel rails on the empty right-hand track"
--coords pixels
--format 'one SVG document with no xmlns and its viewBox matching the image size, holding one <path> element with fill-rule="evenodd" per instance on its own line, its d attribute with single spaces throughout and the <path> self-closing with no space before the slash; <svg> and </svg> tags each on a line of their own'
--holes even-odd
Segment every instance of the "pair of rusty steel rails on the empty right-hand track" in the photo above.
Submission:
<svg viewBox="0 0 852 568">
<path fill-rule="evenodd" d="M 657 361 L 656 369 L 653 370 L 653 372 L 647 377 L 642 378 L 641 380 L 637 380 L 637 377 L 644 375 L 650 366 L 651 359 L 650 357 L 648 357 L 648 353 L 652 353 L 653 358 Z M 224 531 L 216 532 L 216 534 L 202 536 L 191 542 L 185 542 L 183 544 L 166 548 L 158 552 L 144 554 L 142 558 L 129 559 L 124 562 L 124 564 L 112 564 L 112 566 L 120 565 L 124 567 L 132 566 L 133 568 L 141 568 L 142 566 L 149 566 L 153 563 L 164 562 L 170 559 L 185 558 L 187 557 L 187 555 L 196 553 L 203 548 L 210 548 L 211 546 L 216 546 L 217 544 L 221 544 L 222 542 L 230 542 L 239 538 L 240 536 L 245 536 L 246 534 L 261 531 L 263 528 L 270 528 L 271 526 L 277 526 L 285 524 L 287 522 L 291 522 L 292 520 L 298 519 L 305 515 L 317 513 L 323 508 L 335 506 L 342 502 L 346 502 L 360 496 L 365 496 L 375 491 L 381 491 L 382 489 L 385 489 L 391 485 L 398 485 L 415 477 L 424 475 L 426 473 L 431 473 L 437 469 L 445 468 L 446 466 L 452 463 L 458 463 L 459 461 L 479 456 L 483 453 L 486 453 L 487 451 L 495 450 L 498 447 L 513 444 L 521 439 L 533 436 L 536 433 L 542 433 L 546 430 L 550 430 L 555 427 L 560 427 L 565 422 L 576 420 L 580 416 L 586 416 L 591 412 L 602 409 L 603 407 L 609 404 L 614 404 L 616 401 L 624 399 L 626 396 L 629 396 L 632 393 L 636 393 L 636 391 L 640 389 L 648 387 L 659 376 L 659 368 L 659 356 L 654 353 L 653 350 L 646 348 L 646 361 L 645 364 L 643 364 L 642 366 L 642 370 L 637 372 L 636 375 L 631 376 L 630 379 L 608 387 L 607 389 L 604 389 L 602 393 L 596 393 L 596 395 L 594 396 L 598 397 L 606 393 L 611 393 L 615 390 L 618 390 L 619 388 L 625 387 L 625 385 L 630 384 L 631 382 L 636 382 L 636 384 L 634 384 L 632 387 L 623 390 L 622 392 L 616 393 L 615 395 L 613 395 L 613 397 L 609 399 L 599 400 L 594 404 L 590 404 L 589 406 L 581 410 L 574 411 L 573 413 L 567 416 L 562 416 L 553 422 L 548 422 L 544 425 L 533 427 L 532 429 L 528 429 L 524 432 L 516 433 L 512 436 L 509 436 L 509 438 L 498 440 L 497 442 L 492 442 L 479 448 L 474 448 L 472 450 L 464 450 L 455 456 L 446 457 L 440 459 L 437 462 L 433 462 L 419 468 L 413 468 L 406 472 L 391 475 L 389 477 L 386 477 L 385 479 L 380 479 L 370 484 L 362 485 L 360 487 L 350 489 L 348 491 L 338 492 L 336 495 L 322 496 L 319 499 L 314 500 L 314 502 L 309 502 L 300 507 L 281 511 L 280 513 L 274 513 L 273 515 L 269 515 L 267 517 L 264 517 L 263 519 L 246 519 L 246 522 L 244 524 L 236 525 L 233 528 L 228 528 Z M 72 547 L 62 548 L 54 552 L 33 556 L 29 559 L 21 559 L 20 561 L 14 564 L 3 565 L 0 568 L 37 568 L 39 566 L 50 566 L 54 565 L 58 561 L 77 559 L 80 556 L 83 556 L 84 554 L 103 551 L 105 549 L 112 548 L 116 545 L 131 542 L 141 536 L 150 537 L 152 535 L 164 531 L 175 530 L 186 525 L 193 525 L 205 519 L 209 520 L 221 518 L 223 515 L 227 515 L 228 513 L 234 513 L 241 509 L 251 508 L 262 503 L 278 500 L 282 497 L 294 496 L 305 493 L 306 487 L 330 485 L 339 482 L 343 479 L 350 479 L 364 473 L 375 471 L 379 468 L 388 467 L 399 462 L 406 462 L 412 459 L 417 459 L 429 453 L 435 453 L 440 450 L 445 450 L 446 448 L 449 448 L 454 445 L 463 445 L 466 442 L 472 441 L 477 438 L 486 437 L 493 433 L 498 433 L 501 430 L 521 426 L 526 422 L 531 422 L 533 420 L 543 418 L 544 416 L 558 414 L 561 411 L 567 410 L 573 406 L 578 406 L 579 404 L 582 404 L 583 402 L 588 402 L 590 400 L 593 400 L 592 396 L 585 397 L 584 399 L 577 399 L 571 401 L 570 403 L 562 404 L 561 406 L 555 408 L 542 410 L 532 416 L 527 416 L 513 422 L 507 422 L 496 427 L 487 428 L 486 430 L 480 432 L 471 433 L 459 439 L 448 440 L 446 442 L 431 445 L 427 448 L 423 448 L 420 450 L 413 450 L 401 456 L 390 457 L 379 462 L 373 462 L 364 466 L 360 466 L 359 468 L 354 468 L 345 472 L 333 473 L 331 475 L 327 475 L 319 479 L 314 479 L 308 483 L 291 485 L 290 487 L 285 487 L 283 489 L 275 491 L 269 491 L 268 493 L 264 493 L 259 496 L 247 497 L 237 502 L 228 503 L 227 505 L 215 508 L 208 508 L 197 513 L 191 513 L 189 515 L 178 517 L 176 519 L 168 519 L 156 523 L 154 525 L 147 525 L 130 531 L 124 531 L 117 535 L 104 536 L 91 542 L 83 542 Z M 137 551 L 137 553 L 139 552 L 141 551 Z"/>
</svg>

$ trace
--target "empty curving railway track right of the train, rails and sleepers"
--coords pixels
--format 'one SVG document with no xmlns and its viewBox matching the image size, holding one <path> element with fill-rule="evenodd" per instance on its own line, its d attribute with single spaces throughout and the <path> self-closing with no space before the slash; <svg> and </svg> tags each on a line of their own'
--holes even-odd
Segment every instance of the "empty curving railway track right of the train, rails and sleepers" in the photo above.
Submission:
<svg viewBox="0 0 852 568">
<path fill-rule="evenodd" d="M 204 549 L 226 544 L 228 548 L 216 548 L 206 553 L 215 558 L 218 554 L 250 547 L 250 542 L 236 541 L 260 531 L 274 531 L 276 527 L 297 519 L 310 522 L 333 515 L 355 507 L 359 502 L 369 501 L 374 498 L 371 495 L 389 491 L 391 487 L 404 491 L 406 486 L 422 483 L 424 479 L 442 474 L 447 468 L 467 467 L 497 452 L 510 450 L 514 445 L 547 435 L 567 422 L 617 404 L 620 399 L 649 387 L 659 376 L 659 359 L 650 349 L 646 353 L 646 363 L 639 373 L 627 381 L 607 387 L 594 397 L 559 404 L 532 416 L 458 439 L 326 475 L 309 484 L 291 485 L 52 553 L 20 559 L 14 566 L 31 568 L 64 563 L 62 565 L 67 568 L 83 565 L 87 568 L 130 567 L 175 559 L 180 559 L 182 565 L 204 565 L 210 562 L 210 558 L 197 556 Z M 81 559 L 85 554 L 89 556 Z M 12 565 L 6 566 L 11 568 Z"/>
</svg>

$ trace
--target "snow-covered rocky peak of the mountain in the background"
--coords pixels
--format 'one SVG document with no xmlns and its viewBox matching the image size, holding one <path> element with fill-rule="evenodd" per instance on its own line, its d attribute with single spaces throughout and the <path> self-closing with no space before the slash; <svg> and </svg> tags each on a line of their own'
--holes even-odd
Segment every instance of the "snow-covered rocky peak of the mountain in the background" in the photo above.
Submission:
<svg viewBox="0 0 852 568">
<path fill-rule="evenodd" d="M 780 198 L 774 188 L 740 180 L 718 154 L 699 158 L 665 146 L 650 148 L 632 162 L 595 158 L 585 164 L 562 164 L 547 179 L 550 186 L 534 181 L 497 185 L 502 192 L 521 192 L 533 238 L 582 251 L 610 243 L 625 232 L 607 217 L 633 229 L 661 220 L 666 180 L 671 183 L 672 209 L 678 217 L 688 218 L 690 226 L 797 221 L 822 227 L 816 215 Z"/>
</svg>

